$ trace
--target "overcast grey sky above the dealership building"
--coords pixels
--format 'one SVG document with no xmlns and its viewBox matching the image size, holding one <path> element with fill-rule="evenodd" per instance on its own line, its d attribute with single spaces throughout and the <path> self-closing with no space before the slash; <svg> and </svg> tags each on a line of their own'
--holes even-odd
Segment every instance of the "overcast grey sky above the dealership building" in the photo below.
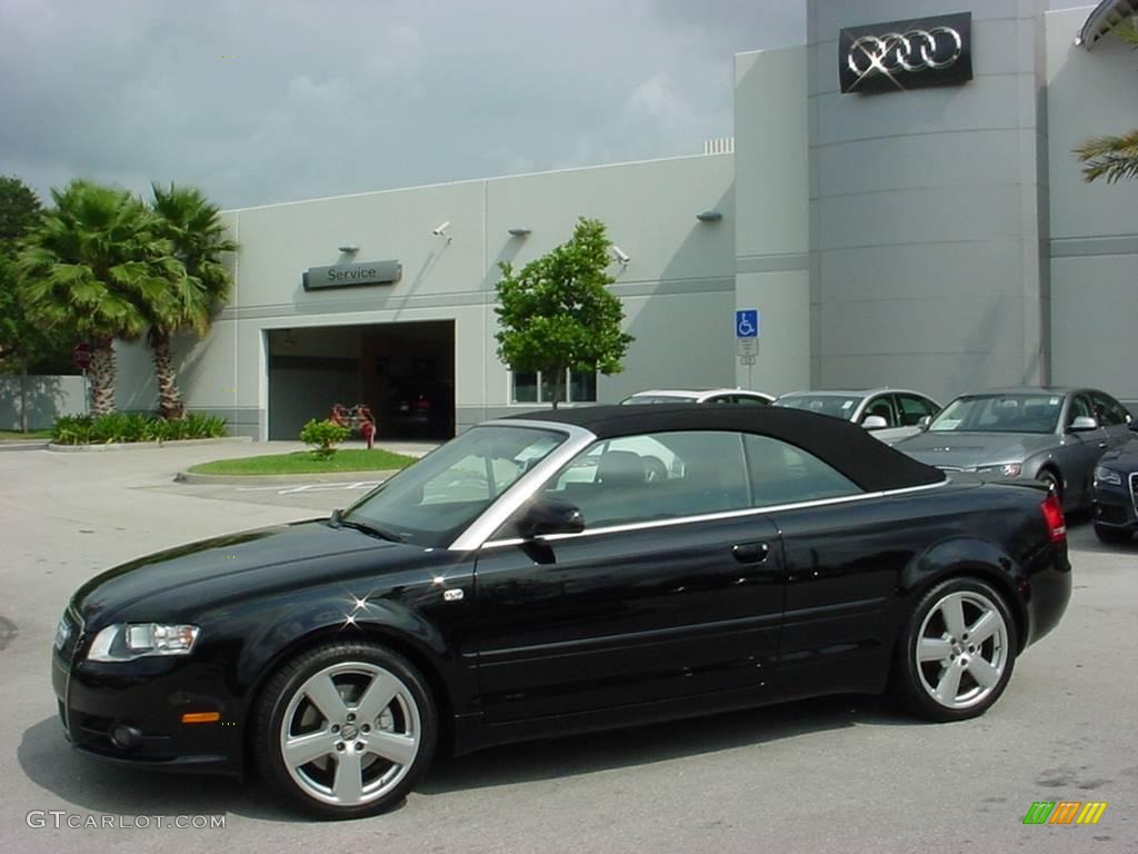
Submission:
<svg viewBox="0 0 1138 854">
<path fill-rule="evenodd" d="M 696 154 L 732 133 L 732 55 L 802 43 L 805 7 L 0 0 L 0 174 L 238 207 Z"/>
</svg>

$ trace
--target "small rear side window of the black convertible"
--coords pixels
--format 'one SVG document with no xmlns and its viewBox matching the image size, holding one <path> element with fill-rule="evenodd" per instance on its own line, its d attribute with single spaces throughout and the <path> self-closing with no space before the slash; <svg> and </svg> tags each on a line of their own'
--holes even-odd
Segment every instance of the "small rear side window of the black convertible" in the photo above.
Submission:
<svg viewBox="0 0 1138 854">
<path fill-rule="evenodd" d="M 852 481 L 801 447 L 769 436 L 743 440 L 754 507 L 856 495 Z"/>
</svg>

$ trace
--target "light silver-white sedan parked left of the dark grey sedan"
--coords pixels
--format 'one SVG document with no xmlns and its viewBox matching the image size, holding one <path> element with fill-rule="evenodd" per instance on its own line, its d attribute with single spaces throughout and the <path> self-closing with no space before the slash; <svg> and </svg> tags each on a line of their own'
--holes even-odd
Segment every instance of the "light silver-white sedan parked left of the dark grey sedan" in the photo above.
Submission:
<svg viewBox="0 0 1138 854">
<path fill-rule="evenodd" d="M 921 420 L 940 411 L 940 404 L 932 397 L 907 388 L 791 392 L 778 397 L 775 405 L 852 421 L 889 445 L 915 436 L 921 432 Z"/>
</svg>

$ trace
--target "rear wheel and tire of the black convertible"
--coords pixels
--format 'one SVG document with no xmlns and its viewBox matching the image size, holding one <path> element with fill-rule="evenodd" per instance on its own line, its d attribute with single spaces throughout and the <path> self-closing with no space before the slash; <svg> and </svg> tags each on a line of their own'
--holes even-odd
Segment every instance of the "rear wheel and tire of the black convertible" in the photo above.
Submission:
<svg viewBox="0 0 1138 854">
<path fill-rule="evenodd" d="M 957 577 L 934 585 L 901 627 L 892 670 L 894 696 L 929 721 L 982 715 L 1012 679 L 1015 632 L 1004 597 L 990 584 Z"/>
</svg>

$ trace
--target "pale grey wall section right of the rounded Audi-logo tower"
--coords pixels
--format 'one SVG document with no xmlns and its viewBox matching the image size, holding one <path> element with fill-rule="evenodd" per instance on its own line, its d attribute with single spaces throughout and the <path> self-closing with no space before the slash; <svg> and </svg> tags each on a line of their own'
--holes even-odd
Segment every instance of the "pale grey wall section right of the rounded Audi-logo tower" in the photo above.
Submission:
<svg viewBox="0 0 1138 854">
<path fill-rule="evenodd" d="M 1138 52 L 1074 33 L 1090 8 L 1047 15 L 1054 379 L 1138 403 L 1138 186 L 1088 184 L 1071 154 L 1138 125 Z"/>
</svg>

